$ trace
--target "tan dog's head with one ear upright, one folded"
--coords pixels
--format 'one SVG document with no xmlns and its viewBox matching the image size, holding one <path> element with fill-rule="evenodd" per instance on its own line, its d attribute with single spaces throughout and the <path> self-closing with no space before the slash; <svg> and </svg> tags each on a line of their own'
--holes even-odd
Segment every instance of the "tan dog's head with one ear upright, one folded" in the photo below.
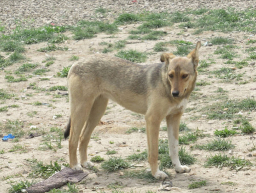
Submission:
<svg viewBox="0 0 256 193">
<path fill-rule="evenodd" d="M 174 54 L 164 53 L 161 62 L 167 66 L 167 80 L 171 85 L 173 97 L 186 97 L 195 87 L 198 66 L 198 50 L 201 43 L 198 41 L 196 48 L 187 57 L 176 57 Z"/>
</svg>

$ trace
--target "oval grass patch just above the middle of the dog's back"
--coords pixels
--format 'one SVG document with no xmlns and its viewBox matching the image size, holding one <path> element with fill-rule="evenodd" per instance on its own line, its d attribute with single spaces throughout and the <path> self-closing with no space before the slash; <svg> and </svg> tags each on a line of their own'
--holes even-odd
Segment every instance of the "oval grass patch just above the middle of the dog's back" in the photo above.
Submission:
<svg viewBox="0 0 256 193">
<path fill-rule="evenodd" d="M 115 55 L 119 58 L 123 58 L 132 62 L 145 62 L 147 55 L 143 52 L 138 52 L 136 50 L 121 50 Z"/>
</svg>

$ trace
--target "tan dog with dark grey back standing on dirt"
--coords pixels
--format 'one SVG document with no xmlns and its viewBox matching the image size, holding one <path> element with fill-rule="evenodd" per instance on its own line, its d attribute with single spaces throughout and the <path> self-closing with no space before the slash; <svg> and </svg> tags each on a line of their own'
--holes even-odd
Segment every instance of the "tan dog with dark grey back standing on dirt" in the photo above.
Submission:
<svg viewBox="0 0 256 193">
<path fill-rule="evenodd" d="M 93 166 L 87 161 L 87 146 L 111 99 L 145 115 L 148 162 L 156 179 L 167 178 L 157 163 L 159 128 L 164 118 L 173 167 L 177 173 L 189 172 L 190 168 L 182 166 L 179 160 L 179 127 L 195 88 L 200 46 L 198 41 L 187 57 L 164 53 L 161 63 L 145 66 L 100 54 L 74 63 L 68 72 L 70 118 L 64 133 L 65 139 L 70 135 L 70 168 L 82 170 L 81 166 Z M 76 157 L 78 141 L 81 166 Z"/>
</svg>

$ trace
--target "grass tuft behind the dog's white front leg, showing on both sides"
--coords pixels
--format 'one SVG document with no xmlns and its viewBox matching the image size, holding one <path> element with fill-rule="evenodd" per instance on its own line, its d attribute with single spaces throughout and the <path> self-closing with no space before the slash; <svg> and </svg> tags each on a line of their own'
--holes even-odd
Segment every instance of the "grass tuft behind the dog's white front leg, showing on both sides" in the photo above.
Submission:
<svg viewBox="0 0 256 193">
<path fill-rule="evenodd" d="M 167 147 L 168 148 L 168 147 Z M 172 160 L 169 156 L 169 152 L 159 155 L 160 164 L 159 168 L 173 168 Z M 186 152 L 185 147 L 181 147 L 179 150 L 179 159 L 181 165 L 191 165 L 196 161 L 196 158 L 192 157 L 188 152 Z"/>
</svg>

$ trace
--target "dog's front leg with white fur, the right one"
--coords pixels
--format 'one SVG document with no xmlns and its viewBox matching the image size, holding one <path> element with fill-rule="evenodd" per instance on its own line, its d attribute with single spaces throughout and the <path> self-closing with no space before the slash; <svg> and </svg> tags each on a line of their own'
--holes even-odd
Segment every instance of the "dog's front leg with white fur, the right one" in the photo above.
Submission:
<svg viewBox="0 0 256 193">
<path fill-rule="evenodd" d="M 169 142 L 169 155 L 172 159 L 172 165 L 177 173 L 189 172 L 190 168 L 182 166 L 179 159 L 179 129 L 182 113 L 168 115 L 166 117 L 167 133 Z"/>
</svg>

